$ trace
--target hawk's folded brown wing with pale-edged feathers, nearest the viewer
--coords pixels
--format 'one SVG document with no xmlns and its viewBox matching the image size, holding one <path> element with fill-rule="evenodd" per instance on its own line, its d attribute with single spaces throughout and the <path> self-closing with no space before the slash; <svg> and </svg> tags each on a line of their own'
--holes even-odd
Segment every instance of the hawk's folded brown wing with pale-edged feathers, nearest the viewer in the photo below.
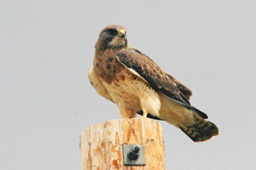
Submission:
<svg viewBox="0 0 256 170">
<path fill-rule="evenodd" d="M 207 115 L 190 105 L 189 100 L 177 88 L 170 75 L 162 71 L 154 61 L 137 49 L 128 49 L 117 54 L 116 59 L 138 77 L 142 77 L 157 92 L 195 111 L 199 116 Z"/>
</svg>

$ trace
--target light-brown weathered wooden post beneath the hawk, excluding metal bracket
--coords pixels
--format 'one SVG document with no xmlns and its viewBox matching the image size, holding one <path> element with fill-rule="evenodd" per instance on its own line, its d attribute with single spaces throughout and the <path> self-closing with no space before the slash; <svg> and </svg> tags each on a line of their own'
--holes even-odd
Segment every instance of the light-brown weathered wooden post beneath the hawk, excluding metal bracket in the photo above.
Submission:
<svg viewBox="0 0 256 170">
<path fill-rule="evenodd" d="M 145 166 L 125 166 L 123 144 L 143 144 Z M 83 170 L 165 170 L 160 122 L 148 118 L 117 119 L 87 127 L 80 135 Z"/>
</svg>

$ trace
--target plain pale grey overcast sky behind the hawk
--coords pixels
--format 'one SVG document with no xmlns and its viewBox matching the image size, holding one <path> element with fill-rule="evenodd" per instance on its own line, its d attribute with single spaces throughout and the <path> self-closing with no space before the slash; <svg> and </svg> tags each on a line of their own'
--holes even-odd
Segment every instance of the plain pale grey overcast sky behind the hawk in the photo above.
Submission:
<svg viewBox="0 0 256 170">
<path fill-rule="evenodd" d="M 0 0 L 0 169 L 80 169 L 81 131 L 121 118 L 87 77 L 109 24 L 219 127 L 193 143 L 161 122 L 166 170 L 256 169 L 256 1 L 155 2 Z"/>
</svg>

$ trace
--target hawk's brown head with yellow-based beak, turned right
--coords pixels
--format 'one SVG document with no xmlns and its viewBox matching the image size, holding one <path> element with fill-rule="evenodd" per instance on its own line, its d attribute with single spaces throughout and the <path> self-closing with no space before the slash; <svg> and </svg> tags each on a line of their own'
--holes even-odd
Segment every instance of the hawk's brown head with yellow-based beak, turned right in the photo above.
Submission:
<svg viewBox="0 0 256 170">
<path fill-rule="evenodd" d="M 100 33 L 96 42 L 96 49 L 127 48 L 126 29 L 124 26 L 106 26 Z"/>
</svg>

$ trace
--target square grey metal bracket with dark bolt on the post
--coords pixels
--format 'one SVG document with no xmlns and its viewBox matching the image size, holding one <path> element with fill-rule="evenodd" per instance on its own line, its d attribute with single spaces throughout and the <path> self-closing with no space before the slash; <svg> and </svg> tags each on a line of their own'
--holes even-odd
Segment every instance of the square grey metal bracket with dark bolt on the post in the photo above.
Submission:
<svg viewBox="0 0 256 170">
<path fill-rule="evenodd" d="M 125 166 L 145 166 L 145 155 L 143 144 L 123 144 Z"/>
</svg>

